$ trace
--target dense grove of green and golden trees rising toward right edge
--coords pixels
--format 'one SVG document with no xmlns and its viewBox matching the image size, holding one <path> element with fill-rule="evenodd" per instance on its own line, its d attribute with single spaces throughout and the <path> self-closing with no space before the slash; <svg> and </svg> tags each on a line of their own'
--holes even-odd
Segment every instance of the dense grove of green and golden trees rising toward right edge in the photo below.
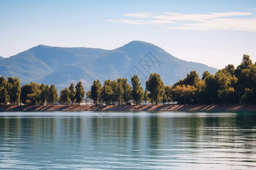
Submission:
<svg viewBox="0 0 256 170">
<path fill-rule="evenodd" d="M 236 69 L 228 65 L 215 75 L 205 71 L 201 79 L 196 71 L 191 71 L 169 88 L 171 100 L 180 104 L 255 104 L 256 62 L 243 55 Z"/>
</svg>

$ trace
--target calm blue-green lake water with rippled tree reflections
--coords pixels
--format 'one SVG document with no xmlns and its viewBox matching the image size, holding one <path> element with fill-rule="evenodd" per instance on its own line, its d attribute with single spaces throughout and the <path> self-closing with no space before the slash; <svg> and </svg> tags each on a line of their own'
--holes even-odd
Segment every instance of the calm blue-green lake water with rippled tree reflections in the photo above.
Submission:
<svg viewBox="0 0 256 170">
<path fill-rule="evenodd" d="M 256 169 L 256 113 L 0 113 L 0 169 Z"/>
</svg>

